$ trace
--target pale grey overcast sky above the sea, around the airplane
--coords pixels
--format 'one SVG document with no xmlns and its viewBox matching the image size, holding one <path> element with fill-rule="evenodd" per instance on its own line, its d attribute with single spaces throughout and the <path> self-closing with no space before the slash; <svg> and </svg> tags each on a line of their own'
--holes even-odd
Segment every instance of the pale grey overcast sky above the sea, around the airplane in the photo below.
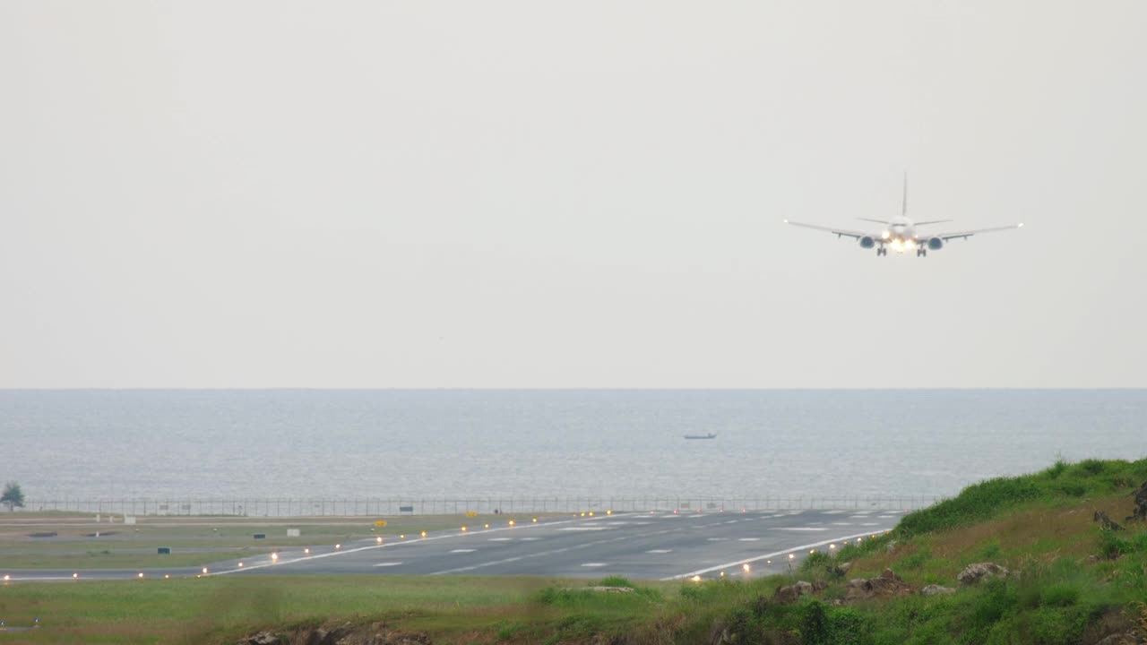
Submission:
<svg viewBox="0 0 1147 645">
<path fill-rule="evenodd" d="M 1141 0 L 5 1 L 0 387 L 1145 387 Z M 783 218 L 1025 223 L 927 258 Z M 879 230 L 879 225 L 872 225 Z"/>
</svg>

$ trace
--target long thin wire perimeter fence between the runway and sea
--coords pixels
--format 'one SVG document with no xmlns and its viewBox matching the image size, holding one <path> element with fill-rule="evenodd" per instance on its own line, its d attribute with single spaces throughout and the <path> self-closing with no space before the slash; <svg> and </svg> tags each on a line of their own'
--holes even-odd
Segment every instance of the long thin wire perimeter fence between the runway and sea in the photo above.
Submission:
<svg viewBox="0 0 1147 645">
<path fill-rule="evenodd" d="M 225 515 L 253 518 L 450 515 L 463 513 L 913 511 L 941 497 L 467 497 L 431 498 L 135 498 L 29 499 L 29 511 L 111 515 Z"/>
</svg>

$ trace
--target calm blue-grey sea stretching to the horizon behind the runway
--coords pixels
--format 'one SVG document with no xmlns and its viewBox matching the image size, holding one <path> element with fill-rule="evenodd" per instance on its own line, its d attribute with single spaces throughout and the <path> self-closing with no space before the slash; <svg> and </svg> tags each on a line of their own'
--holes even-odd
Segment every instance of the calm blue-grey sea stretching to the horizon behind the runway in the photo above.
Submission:
<svg viewBox="0 0 1147 645">
<path fill-rule="evenodd" d="M 1144 457 L 1147 390 L 0 390 L 30 499 L 950 496 Z"/>
</svg>

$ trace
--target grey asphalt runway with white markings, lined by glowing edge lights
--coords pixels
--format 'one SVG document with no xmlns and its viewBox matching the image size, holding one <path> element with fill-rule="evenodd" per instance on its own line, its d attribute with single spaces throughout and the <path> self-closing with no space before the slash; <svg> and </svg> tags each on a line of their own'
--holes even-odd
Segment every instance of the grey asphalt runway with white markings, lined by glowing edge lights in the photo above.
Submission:
<svg viewBox="0 0 1147 645">
<path fill-rule="evenodd" d="M 467 530 L 315 545 L 202 568 L 3 572 L 9 582 L 194 575 L 529 575 L 674 580 L 756 577 L 787 570 L 812 549 L 830 551 L 896 526 L 895 511 L 621 513 L 476 520 Z M 490 521 L 490 528 L 485 522 Z M 748 565 L 748 568 L 746 568 Z M 2 566 L 2 565 L 0 565 Z"/>
</svg>

